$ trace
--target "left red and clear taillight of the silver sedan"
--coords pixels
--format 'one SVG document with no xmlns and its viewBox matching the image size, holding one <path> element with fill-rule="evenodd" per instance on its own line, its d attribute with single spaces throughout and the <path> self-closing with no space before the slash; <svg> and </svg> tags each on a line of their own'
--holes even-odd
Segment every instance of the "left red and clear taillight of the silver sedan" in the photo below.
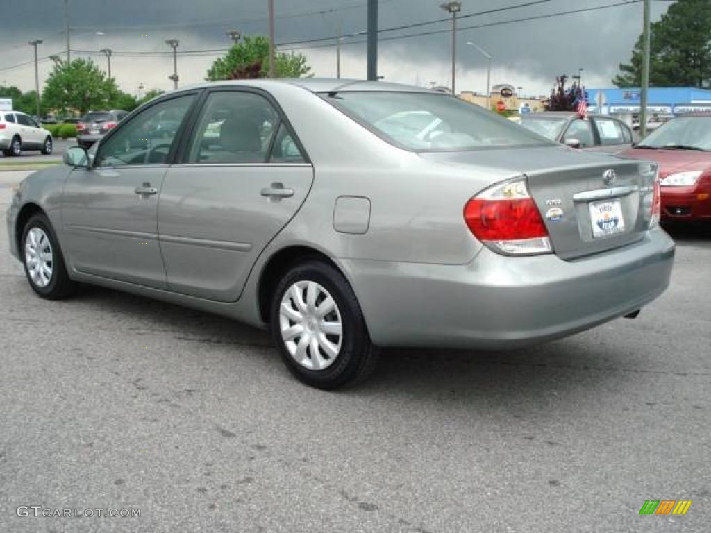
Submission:
<svg viewBox="0 0 711 533">
<path fill-rule="evenodd" d="M 495 185 L 464 206 L 474 237 L 508 254 L 550 253 L 550 238 L 524 181 Z"/>
</svg>

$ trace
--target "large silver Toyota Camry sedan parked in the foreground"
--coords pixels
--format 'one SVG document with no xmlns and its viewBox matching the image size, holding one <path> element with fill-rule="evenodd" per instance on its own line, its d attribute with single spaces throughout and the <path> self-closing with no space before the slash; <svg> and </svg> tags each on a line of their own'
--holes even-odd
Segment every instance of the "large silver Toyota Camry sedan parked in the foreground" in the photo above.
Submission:
<svg viewBox="0 0 711 533">
<path fill-rule="evenodd" d="M 64 161 L 7 215 L 39 296 L 81 281 L 269 326 L 326 389 L 376 347 L 518 348 L 636 316 L 672 268 L 654 164 L 419 87 L 197 85 Z"/>
</svg>

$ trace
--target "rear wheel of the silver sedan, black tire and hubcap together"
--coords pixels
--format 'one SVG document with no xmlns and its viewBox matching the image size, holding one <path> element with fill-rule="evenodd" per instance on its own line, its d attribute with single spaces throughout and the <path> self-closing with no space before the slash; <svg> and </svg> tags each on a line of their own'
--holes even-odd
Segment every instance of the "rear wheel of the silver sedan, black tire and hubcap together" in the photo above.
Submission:
<svg viewBox="0 0 711 533">
<path fill-rule="evenodd" d="M 292 267 L 279 281 L 270 313 L 272 336 L 289 370 L 319 389 L 365 379 L 378 350 L 343 275 L 324 262 Z"/>
</svg>

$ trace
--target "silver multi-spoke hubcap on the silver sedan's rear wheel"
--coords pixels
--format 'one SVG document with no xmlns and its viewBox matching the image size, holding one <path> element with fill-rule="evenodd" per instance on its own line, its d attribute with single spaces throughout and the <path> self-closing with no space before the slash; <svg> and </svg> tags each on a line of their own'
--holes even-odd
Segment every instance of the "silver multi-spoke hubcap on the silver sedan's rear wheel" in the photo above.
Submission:
<svg viewBox="0 0 711 533">
<path fill-rule="evenodd" d="M 341 352 L 341 312 L 315 281 L 296 281 L 289 287 L 279 308 L 279 328 L 289 354 L 309 370 L 333 365 Z"/>
</svg>

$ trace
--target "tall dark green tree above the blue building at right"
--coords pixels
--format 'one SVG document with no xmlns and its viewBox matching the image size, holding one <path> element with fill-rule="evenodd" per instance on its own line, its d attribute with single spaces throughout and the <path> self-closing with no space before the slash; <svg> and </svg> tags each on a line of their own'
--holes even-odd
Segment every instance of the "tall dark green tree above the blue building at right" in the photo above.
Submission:
<svg viewBox="0 0 711 533">
<path fill-rule="evenodd" d="M 711 0 L 677 0 L 651 24 L 649 84 L 665 87 L 711 85 Z M 630 63 L 619 65 L 612 82 L 639 87 L 642 80 L 642 36 Z"/>
</svg>

